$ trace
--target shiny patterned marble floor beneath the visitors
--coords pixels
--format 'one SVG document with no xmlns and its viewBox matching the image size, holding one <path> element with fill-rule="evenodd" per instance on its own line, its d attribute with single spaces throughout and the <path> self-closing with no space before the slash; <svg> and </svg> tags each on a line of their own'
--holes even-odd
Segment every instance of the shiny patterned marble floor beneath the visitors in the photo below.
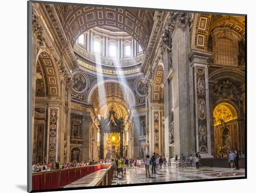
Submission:
<svg viewBox="0 0 256 193">
<path fill-rule="evenodd" d="M 98 177 L 102 171 L 98 170 L 79 180 L 74 181 L 71 184 L 68 184 L 63 188 L 86 187 L 92 180 Z M 202 167 L 196 170 L 195 167 L 192 167 L 192 168 L 180 167 L 178 169 L 176 169 L 175 167 L 167 167 L 167 169 L 156 170 L 156 174 L 152 174 L 150 171 L 150 177 L 146 177 L 145 168 L 137 167 L 137 168 L 128 169 L 126 171 L 126 174 L 123 177 L 121 177 L 121 173 L 119 174 L 118 178 L 113 177 L 111 185 L 138 184 L 138 183 L 164 182 L 164 181 L 181 181 L 181 180 L 203 180 L 203 179 L 244 177 L 244 176 L 245 176 L 244 169 L 234 170 L 234 168 Z"/>
</svg>

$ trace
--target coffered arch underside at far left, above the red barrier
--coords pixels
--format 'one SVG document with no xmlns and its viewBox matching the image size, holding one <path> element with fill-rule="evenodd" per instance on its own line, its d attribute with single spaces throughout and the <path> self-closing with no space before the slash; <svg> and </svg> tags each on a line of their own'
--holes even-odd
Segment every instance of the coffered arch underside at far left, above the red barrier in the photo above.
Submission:
<svg viewBox="0 0 256 193">
<path fill-rule="evenodd" d="M 49 97 L 60 96 L 60 77 L 58 68 L 52 56 L 44 50 L 39 51 L 37 62 L 43 67 L 47 79 L 47 88 Z"/>
</svg>

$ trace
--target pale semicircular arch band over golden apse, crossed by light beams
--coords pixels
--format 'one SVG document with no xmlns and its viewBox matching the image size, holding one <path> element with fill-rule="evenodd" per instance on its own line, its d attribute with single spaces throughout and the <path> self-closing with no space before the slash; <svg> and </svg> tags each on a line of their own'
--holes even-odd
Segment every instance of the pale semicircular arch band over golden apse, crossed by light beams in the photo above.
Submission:
<svg viewBox="0 0 256 193">
<path fill-rule="evenodd" d="M 134 94 L 134 91 L 133 89 L 130 87 L 130 85 L 126 82 L 122 82 L 120 80 L 116 80 L 116 79 L 102 79 L 96 83 L 94 83 L 90 89 L 88 90 L 88 96 L 86 98 L 86 100 L 88 102 L 91 102 L 92 100 L 92 95 L 93 95 L 93 92 L 94 90 L 99 87 L 99 86 L 104 86 L 104 83 L 117 83 L 117 84 L 120 84 L 121 86 L 123 86 L 124 90 L 128 92 L 129 96 L 131 96 L 131 98 L 129 98 L 130 100 L 130 103 L 129 105 L 135 105 L 136 103 L 136 99 L 135 99 L 135 94 Z"/>
</svg>

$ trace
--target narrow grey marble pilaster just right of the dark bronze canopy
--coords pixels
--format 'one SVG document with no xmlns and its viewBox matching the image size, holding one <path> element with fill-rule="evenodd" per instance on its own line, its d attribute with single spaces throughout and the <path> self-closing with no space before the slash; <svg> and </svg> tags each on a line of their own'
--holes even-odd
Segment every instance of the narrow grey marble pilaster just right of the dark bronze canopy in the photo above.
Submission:
<svg viewBox="0 0 256 193">
<path fill-rule="evenodd" d="M 133 116 L 133 157 L 136 159 L 139 157 L 140 152 L 140 142 L 139 142 L 139 132 L 140 132 L 140 117 Z"/>
</svg>

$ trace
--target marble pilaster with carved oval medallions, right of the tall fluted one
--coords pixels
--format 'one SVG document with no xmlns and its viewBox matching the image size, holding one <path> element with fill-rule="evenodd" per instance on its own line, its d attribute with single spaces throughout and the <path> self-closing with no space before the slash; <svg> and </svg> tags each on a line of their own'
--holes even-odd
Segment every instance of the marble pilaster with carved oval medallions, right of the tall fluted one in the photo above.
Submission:
<svg viewBox="0 0 256 193">
<path fill-rule="evenodd" d="M 213 157 L 211 152 L 208 58 L 211 52 L 192 50 L 189 53 L 194 79 L 195 141 L 201 157 Z"/>
</svg>

